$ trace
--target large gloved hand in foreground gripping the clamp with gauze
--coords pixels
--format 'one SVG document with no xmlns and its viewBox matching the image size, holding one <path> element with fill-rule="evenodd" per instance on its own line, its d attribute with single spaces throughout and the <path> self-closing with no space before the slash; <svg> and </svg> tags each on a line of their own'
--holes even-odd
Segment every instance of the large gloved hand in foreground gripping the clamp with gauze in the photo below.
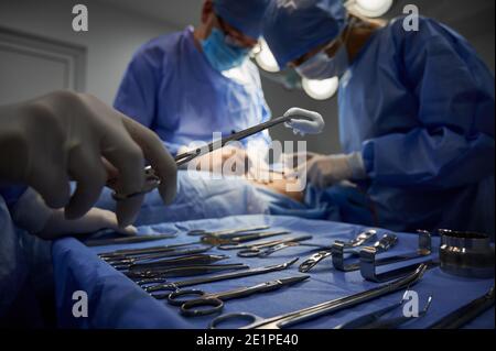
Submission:
<svg viewBox="0 0 496 351">
<path fill-rule="evenodd" d="M 67 219 L 97 201 L 108 179 L 104 157 L 117 169 L 119 194 L 142 189 L 147 160 L 165 204 L 174 199 L 175 162 L 157 134 L 95 97 L 56 91 L 0 107 L 0 179 L 33 187 L 51 208 L 65 207 Z M 69 178 L 77 182 L 73 197 Z M 118 201 L 121 227 L 134 221 L 142 199 Z"/>
</svg>

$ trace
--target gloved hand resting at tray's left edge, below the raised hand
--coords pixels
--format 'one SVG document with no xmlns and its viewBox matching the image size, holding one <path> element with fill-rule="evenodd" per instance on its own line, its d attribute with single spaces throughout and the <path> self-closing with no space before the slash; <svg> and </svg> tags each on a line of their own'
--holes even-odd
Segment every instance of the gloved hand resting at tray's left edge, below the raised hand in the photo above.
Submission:
<svg viewBox="0 0 496 351">
<path fill-rule="evenodd" d="M 116 215 L 99 208 L 91 208 L 79 219 L 68 220 L 64 216 L 64 210 L 48 208 L 32 188 L 28 188 L 18 200 L 12 209 L 12 218 L 20 228 L 46 240 L 91 233 L 101 229 L 112 229 L 125 235 L 137 234 L 134 227 L 119 228 Z"/>
</svg>

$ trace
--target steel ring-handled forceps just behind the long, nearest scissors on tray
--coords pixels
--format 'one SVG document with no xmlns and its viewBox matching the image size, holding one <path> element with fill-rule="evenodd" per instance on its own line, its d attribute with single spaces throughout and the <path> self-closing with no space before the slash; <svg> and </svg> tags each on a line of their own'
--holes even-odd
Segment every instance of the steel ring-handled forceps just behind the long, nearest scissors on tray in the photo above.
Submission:
<svg viewBox="0 0 496 351">
<path fill-rule="evenodd" d="M 271 282 L 257 284 L 249 287 L 240 287 L 237 289 L 207 294 L 198 289 L 177 290 L 169 295 L 169 304 L 181 306 L 181 314 L 187 317 L 206 316 L 219 312 L 224 308 L 224 301 L 233 298 L 241 298 L 254 294 L 266 293 L 279 289 L 283 286 L 296 284 L 310 278 L 310 275 L 295 276 L 291 278 L 282 278 Z M 179 298 L 184 296 L 200 296 L 193 299 Z M 206 307 L 211 308 L 206 308 Z"/>
</svg>

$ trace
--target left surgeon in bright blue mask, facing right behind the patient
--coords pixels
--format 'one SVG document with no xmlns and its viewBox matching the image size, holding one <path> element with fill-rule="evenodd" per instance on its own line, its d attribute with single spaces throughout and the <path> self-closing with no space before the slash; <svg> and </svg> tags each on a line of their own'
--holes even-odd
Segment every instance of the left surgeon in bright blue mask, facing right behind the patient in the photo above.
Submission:
<svg viewBox="0 0 496 351">
<path fill-rule="evenodd" d="M 138 50 L 115 108 L 155 131 L 173 155 L 193 141 L 212 142 L 213 132 L 226 136 L 269 120 L 259 72 L 248 59 L 269 2 L 205 0 L 198 28 L 159 36 Z M 245 146 L 257 153 L 269 143 L 265 132 Z"/>
</svg>

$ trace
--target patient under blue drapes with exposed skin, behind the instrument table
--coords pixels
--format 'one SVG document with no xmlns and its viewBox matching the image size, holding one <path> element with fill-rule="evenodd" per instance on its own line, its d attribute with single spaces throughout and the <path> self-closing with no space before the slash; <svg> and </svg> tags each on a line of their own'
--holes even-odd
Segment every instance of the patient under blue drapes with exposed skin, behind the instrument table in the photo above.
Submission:
<svg viewBox="0 0 496 351">
<path fill-rule="evenodd" d="M 211 173 L 180 171 L 177 196 L 164 206 L 158 190 L 147 195 L 137 226 L 161 222 L 223 218 L 238 215 L 296 216 L 339 221 L 334 187 L 316 189 L 295 186 L 290 177 L 273 176 L 262 180 L 249 177 L 212 177 Z M 296 190 L 292 191 L 292 187 Z M 341 204 L 339 204 L 341 205 Z M 105 189 L 97 207 L 112 210 L 111 190 Z"/>
</svg>

